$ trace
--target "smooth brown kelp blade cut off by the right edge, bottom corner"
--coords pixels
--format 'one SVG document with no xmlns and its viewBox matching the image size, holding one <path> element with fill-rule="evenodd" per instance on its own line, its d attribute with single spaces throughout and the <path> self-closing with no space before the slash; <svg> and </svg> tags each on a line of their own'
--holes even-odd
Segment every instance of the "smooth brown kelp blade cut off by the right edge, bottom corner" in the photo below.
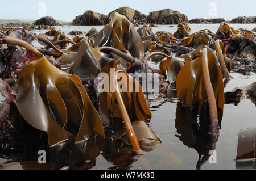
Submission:
<svg viewBox="0 0 256 181">
<path fill-rule="evenodd" d="M 238 133 L 237 159 L 256 158 L 256 128 Z"/>
</svg>

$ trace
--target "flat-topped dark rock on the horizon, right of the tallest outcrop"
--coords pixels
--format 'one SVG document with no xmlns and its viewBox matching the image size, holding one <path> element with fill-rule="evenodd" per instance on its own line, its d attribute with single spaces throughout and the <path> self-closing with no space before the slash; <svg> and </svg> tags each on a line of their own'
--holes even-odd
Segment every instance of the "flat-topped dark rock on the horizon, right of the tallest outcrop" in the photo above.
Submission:
<svg viewBox="0 0 256 181">
<path fill-rule="evenodd" d="M 150 12 L 148 22 L 154 24 L 179 24 L 180 22 L 188 22 L 188 17 L 178 11 L 165 9 Z"/>
</svg>

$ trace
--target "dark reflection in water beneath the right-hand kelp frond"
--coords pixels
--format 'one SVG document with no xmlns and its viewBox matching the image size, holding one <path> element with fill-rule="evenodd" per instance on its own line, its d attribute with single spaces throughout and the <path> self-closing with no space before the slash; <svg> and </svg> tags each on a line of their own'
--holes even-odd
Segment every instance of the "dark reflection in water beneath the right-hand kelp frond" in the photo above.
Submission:
<svg viewBox="0 0 256 181">
<path fill-rule="evenodd" d="M 208 133 L 210 123 L 207 103 L 203 103 L 199 116 L 197 116 L 197 107 L 191 110 L 190 107 L 184 107 L 180 102 L 177 103 L 175 128 L 178 134 L 175 136 L 188 148 L 193 148 L 197 151 L 199 159 L 196 163 L 196 169 L 201 169 L 201 166 L 210 157 L 209 151 L 216 149 L 218 137 L 213 137 Z M 218 120 L 220 120 L 221 127 L 221 110 L 218 110 Z"/>
</svg>

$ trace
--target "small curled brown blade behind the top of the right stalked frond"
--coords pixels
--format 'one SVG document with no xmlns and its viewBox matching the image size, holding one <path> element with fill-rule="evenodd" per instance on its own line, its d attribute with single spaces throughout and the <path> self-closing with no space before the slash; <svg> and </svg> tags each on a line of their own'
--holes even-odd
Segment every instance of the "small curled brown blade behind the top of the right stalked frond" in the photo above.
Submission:
<svg viewBox="0 0 256 181">
<path fill-rule="evenodd" d="M 203 49 L 204 48 L 207 48 L 207 53 L 209 54 L 209 53 L 212 53 L 214 50 L 213 49 L 211 49 L 211 48 L 209 48 L 207 45 L 200 45 L 199 47 L 197 47 L 195 50 L 193 50 L 192 52 L 189 52 L 189 53 L 187 53 L 187 54 L 183 54 L 183 55 L 181 55 L 180 57 L 181 58 L 184 58 L 184 60 L 186 61 L 186 62 L 190 62 L 190 61 L 192 61 L 192 60 L 195 60 L 195 59 L 197 59 L 197 58 L 199 58 L 199 57 L 201 57 L 202 56 L 202 54 L 203 54 Z"/>
</svg>

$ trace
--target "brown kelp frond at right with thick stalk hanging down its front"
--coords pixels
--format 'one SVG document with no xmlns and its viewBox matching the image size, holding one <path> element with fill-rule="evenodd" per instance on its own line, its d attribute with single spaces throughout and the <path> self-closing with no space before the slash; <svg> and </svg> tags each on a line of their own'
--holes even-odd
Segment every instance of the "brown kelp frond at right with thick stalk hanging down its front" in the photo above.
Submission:
<svg viewBox="0 0 256 181">
<path fill-rule="evenodd" d="M 210 134 L 217 135 L 217 107 L 223 110 L 224 84 L 215 52 L 207 54 L 207 48 L 204 48 L 202 57 L 188 62 L 180 70 L 176 85 L 178 99 L 185 105 L 194 106 L 208 99 Z"/>
</svg>

